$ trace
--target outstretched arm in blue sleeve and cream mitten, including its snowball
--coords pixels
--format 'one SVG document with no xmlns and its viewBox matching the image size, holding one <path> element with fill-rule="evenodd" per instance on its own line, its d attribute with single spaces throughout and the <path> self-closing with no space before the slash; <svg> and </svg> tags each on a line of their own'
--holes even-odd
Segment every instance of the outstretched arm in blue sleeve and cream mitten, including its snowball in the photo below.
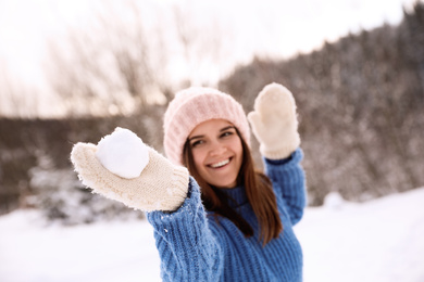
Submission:
<svg viewBox="0 0 424 282">
<path fill-rule="evenodd" d="M 171 164 L 127 129 L 98 145 L 77 143 L 71 159 L 83 183 L 105 197 L 148 211 L 163 281 L 219 281 L 223 260 L 199 187 L 185 167 Z"/>
</svg>

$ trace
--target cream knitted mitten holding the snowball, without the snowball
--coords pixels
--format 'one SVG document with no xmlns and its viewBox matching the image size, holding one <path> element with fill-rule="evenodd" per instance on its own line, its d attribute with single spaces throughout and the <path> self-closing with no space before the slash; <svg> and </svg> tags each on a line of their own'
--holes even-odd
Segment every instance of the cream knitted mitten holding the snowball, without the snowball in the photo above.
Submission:
<svg viewBox="0 0 424 282">
<path fill-rule="evenodd" d="M 96 157 L 97 146 L 77 143 L 71 161 L 83 183 L 105 197 L 145 211 L 175 210 L 187 196 L 188 170 L 171 164 L 153 149 L 149 163 L 134 179 L 119 177 L 104 168 Z"/>
</svg>

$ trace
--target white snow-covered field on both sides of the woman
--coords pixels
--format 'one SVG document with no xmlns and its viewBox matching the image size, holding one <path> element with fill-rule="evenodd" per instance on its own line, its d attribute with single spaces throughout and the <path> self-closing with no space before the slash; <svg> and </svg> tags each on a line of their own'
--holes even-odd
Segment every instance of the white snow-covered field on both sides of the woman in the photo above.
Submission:
<svg viewBox="0 0 424 282">
<path fill-rule="evenodd" d="M 424 281 L 424 188 L 364 204 L 334 196 L 296 227 L 304 281 Z M 160 281 L 146 221 L 46 227 L 37 211 L 0 217 L 0 281 Z"/>
</svg>

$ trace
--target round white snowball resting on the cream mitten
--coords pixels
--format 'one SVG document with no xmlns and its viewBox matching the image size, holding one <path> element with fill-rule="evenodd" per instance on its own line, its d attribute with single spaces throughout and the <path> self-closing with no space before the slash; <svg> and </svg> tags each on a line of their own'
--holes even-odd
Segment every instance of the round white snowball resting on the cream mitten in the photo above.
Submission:
<svg viewBox="0 0 424 282">
<path fill-rule="evenodd" d="M 122 178 L 139 177 L 149 163 L 149 151 L 133 131 L 117 127 L 97 144 L 96 157 L 109 171 Z"/>
</svg>

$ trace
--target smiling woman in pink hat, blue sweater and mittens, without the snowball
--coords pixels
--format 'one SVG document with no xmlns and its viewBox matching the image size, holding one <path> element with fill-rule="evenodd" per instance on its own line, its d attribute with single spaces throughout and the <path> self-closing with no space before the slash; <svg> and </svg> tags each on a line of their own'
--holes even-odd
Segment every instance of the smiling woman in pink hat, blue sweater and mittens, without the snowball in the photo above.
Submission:
<svg viewBox="0 0 424 282">
<path fill-rule="evenodd" d="M 265 172 L 254 169 L 250 121 Z M 230 95 L 178 92 L 164 117 L 167 158 L 149 148 L 142 172 L 126 179 L 78 143 L 71 159 L 95 192 L 147 213 L 164 281 L 302 281 L 292 226 L 305 205 L 295 100 L 271 84 L 246 117 Z"/>
</svg>

